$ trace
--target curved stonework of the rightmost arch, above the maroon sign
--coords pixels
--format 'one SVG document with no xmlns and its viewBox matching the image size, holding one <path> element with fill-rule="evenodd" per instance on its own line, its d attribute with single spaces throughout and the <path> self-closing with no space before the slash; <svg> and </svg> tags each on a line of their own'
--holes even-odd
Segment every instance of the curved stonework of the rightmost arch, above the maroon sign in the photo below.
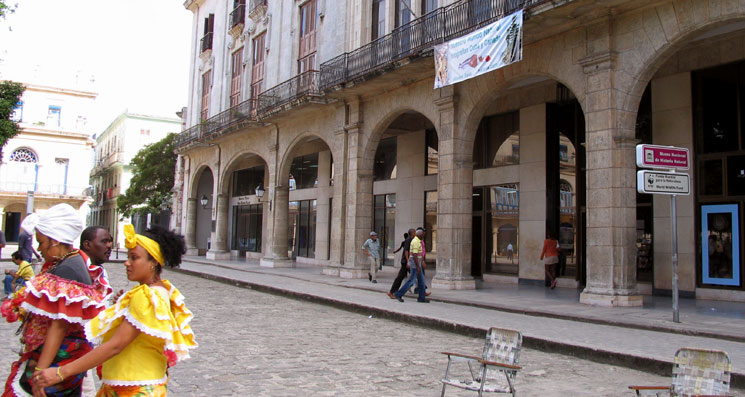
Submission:
<svg viewBox="0 0 745 397">
<path fill-rule="evenodd" d="M 681 3 L 681 1 L 675 1 L 673 3 Z M 710 3 L 709 1 L 702 1 L 701 3 Z M 723 5 L 721 6 L 724 7 Z M 670 7 L 673 8 L 671 12 L 684 13 L 686 12 L 685 7 Z M 718 7 L 715 7 L 718 8 Z M 711 7 L 710 7 L 711 9 Z M 670 12 L 669 10 L 667 10 Z M 660 15 L 662 10 L 652 9 L 647 12 L 656 12 L 658 19 L 657 24 L 662 25 Z M 694 10 L 688 10 L 688 12 L 695 12 Z M 644 15 L 645 22 L 647 22 L 647 14 Z M 698 20 L 697 20 L 698 19 Z M 629 70 L 633 73 L 628 76 L 630 84 L 628 87 L 619 87 L 620 92 L 625 92 L 625 98 L 620 101 L 622 109 L 632 112 L 634 115 L 639 109 L 639 103 L 641 102 L 642 94 L 647 84 L 652 80 L 652 77 L 660 69 L 660 67 L 667 62 L 670 57 L 675 55 L 676 52 L 685 47 L 686 44 L 691 42 L 691 39 L 696 38 L 706 32 L 710 32 L 716 28 L 730 25 L 733 23 L 744 22 L 745 15 L 734 8 L 730 10 L 730 13 L 722 13 L 716 17 L 711 15 L 701 15 L 698 18 L 691 16 L 680 17 L 680 15 L 673 16 L 674 24 L 672 26 L 655 26 L 660 30 L 664 30 L 665 33 L 669 30 L 677 30 L 671 37 L 666 38 L 666 34 L 659 33 L 657 36 L 661 37 L 664 42 L 662 43 L 649 43 L 647 46 L 647 53 L 639 54 L 638 52 L 627 52 L 621 55 L 618 65 L 628 65 Z M 681 21 L 691 21 L 689 24 L 683 24 Z M 656 45 L 655 45 L 656 44 Z M 640 59 L 641 58 L 641 59 Z M 637 65 L 637 68 L 633 68 Z M 632 118 L 633 119 L 633 118 Z"/>
</svg>

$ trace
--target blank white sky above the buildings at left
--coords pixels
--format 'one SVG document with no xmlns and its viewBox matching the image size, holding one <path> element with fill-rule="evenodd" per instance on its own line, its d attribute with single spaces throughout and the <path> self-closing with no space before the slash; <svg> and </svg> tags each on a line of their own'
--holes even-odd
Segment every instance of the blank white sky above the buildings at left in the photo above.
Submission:
<svg viewBox="0 0 745 397">
<path fill-rule="evenodd" d="M 186 106 L 192 13 L 182 0 L 6 3 L 18 7 L 0 19 L 0 78 L 98 93 L 91 135 L 125 110 L 176 118 Z"/>
</svg>

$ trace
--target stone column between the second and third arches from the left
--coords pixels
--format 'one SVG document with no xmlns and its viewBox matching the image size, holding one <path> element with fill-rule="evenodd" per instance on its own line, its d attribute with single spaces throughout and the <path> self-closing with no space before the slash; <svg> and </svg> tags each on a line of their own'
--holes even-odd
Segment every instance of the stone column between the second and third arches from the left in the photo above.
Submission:
<svg viewBox="0 0 745 397">
<path fill-rule="evenodd" d="M 294 262 L 287 256 L 287 224 L 289 213 L 289 186 L 275 186 L 273 197 L 269 202 L 272 219 L 272 241 L 269 252 L 261 258 L 260 265 L 265 267 L 294 267 Z"/>
</svg>

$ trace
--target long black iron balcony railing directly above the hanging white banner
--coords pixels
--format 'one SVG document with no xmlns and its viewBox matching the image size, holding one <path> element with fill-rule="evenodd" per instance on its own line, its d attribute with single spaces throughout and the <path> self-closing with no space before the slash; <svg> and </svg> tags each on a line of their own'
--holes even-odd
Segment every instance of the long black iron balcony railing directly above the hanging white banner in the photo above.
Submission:
<svg viewBox="0 0 745 397">
<path fill-rule="evenodd" d="M 428 56 L 436 44 L 463 36 L 505 15 L 550 0 L 462 0 L 438 8 L 390 34 L 321 64 L 321 90 L 353 80 L 364 80 L 396 61 Z"/>
</svg>

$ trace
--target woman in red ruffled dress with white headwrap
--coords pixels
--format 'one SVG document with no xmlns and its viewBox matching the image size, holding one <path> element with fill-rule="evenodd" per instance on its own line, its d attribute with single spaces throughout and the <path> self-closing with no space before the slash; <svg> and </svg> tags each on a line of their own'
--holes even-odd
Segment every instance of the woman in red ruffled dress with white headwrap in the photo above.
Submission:
<svg viewBox="0 0 745 397">
<path fill-rule="evenodd" d="M 85 373 L 42 389 L 35 385 L 35 371 L 59 367 L 93 349 L 85 339 L 83 324 L 105 309 L 113 290 L 101 266 L 73 248 L 83 230 L 77 211 L 56 205 L 39 217 L 36 240 L 45 263 L 23 290 L 3 303 L 9 322 L 23 319 L 23 349 L 5 383 L 5 396 L 79 396 Z"/>
</svg>

